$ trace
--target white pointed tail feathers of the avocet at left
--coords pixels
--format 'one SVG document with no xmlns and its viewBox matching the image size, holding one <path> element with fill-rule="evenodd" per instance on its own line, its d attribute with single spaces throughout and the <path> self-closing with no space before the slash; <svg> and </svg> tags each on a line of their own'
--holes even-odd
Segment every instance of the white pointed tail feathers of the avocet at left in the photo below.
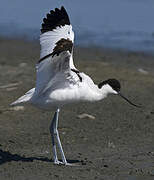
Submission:
<svg viewBox="0 0 154 180">
<path fill-rule="evenodd" d="M 35 92 L 35 88 L 30 89 L 28 92 L 26 92 L 25 95 L 21 96 L 19 99 L 11 103 L 10 106 L 17 106 L 28 103 L 31 97 L 33 96 L 34 92 Z"/>
</svg>

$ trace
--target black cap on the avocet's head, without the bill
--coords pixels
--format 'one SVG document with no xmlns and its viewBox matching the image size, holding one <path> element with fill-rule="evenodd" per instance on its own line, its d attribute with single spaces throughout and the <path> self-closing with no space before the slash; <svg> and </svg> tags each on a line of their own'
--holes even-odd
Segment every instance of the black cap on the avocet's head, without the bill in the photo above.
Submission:
<svg viewBox="0 0 154 180">
<path fill-rule="evenodd" d="M 120 91 L 121 85 L 120 82 L 116 79 L 108 79 L 106 81 L 103 81 L 100 84 L 98 84 L 98 88 L 102 88 L 102 86 L 105 84 L 109 84 L 112 87 L 112 89 L 114 89 L 117 92 Z"/>
</svg>

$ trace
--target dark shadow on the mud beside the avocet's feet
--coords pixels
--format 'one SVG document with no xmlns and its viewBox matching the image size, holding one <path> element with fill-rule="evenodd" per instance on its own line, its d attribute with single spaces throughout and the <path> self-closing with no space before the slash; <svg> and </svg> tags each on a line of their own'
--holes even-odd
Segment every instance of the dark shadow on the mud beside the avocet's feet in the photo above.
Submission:
<svg viewBox="0 0 154 180">
<path fill-rule="evenodd" d="M 24 155 L 12 154 L 9 151 L 3 151 L 0 149 L 0 165 L 11 162 L 11 161 L 21 161 L 21 162 L 33 162 L 36 161 L 44 161 L 44 162 L 53 162 L 53 160 L 47 157 L 25 157 Z M 68 160 L 69 163 L 78 163 L 78 160 Z"/>
</svg>

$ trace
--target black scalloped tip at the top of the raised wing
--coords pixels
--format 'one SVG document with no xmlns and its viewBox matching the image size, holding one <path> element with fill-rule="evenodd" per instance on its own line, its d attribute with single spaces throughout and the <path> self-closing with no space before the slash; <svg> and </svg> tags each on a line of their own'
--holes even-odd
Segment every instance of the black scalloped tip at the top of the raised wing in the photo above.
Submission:
<svg viewBox="0 0 154 180">
<path fill-rule="evenodd" d="M 55 11 L 51 10 L 43 19 L 41 33 L 52 31 L 56 27 L 70 25 L 70 20 L 65 8 L 62 6 L 61 9 L 56 8 Z"/>
</svg>

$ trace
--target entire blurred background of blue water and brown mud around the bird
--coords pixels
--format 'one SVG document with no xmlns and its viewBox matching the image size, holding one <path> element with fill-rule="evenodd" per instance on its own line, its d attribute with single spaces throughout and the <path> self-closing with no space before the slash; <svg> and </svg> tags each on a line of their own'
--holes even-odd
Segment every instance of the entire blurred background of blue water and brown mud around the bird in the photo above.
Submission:
<svg viewBox="0 0 154 180">
<path fill-rule="evenodd" d="M 98 84 L 118 79 L 118 96 L 61 110 L 66 157 L 51 162 L 53 112 L 9 104 L 35 87 L 42 19 L 64 6 L 75 31 L 76 67 Z M 154 0 L 1 0 L 0 180 L 153 180 Z M 88 114 L 92 119 L 80 115 Z M 137 178 L 136 178 L 137 177 Z"/>
</svg>

